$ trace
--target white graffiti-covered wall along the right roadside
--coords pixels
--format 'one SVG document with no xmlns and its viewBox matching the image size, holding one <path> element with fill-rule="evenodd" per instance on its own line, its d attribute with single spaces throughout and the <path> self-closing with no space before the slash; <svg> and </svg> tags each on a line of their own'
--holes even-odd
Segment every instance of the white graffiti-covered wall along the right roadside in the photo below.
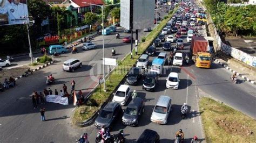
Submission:
<svg viewBox="0 0 256 143">
<path fill-rule="evenodd" d="M 247 65 L 256 67 L 256 56 L 251 56 L 245 52 L 240 51 L 239 49 L 228 46 L 223 42 L 221 43 L 220 50 L 226 55 L 231 55 L 233 58 L 238 59 Z"/>
</svg>

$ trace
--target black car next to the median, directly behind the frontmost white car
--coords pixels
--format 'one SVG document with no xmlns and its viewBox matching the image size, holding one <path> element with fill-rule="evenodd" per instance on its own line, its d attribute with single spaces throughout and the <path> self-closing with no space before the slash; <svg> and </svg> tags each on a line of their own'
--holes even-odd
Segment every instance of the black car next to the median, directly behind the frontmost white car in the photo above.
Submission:
<svg viewBox="0 0 256 143">
<path fill-rule="evenodd" d="M 131 68 L 127 74 L 126 83 L 130 85 L 137 85 L 141 76 L 141 69 L 137 67 Z"/>
</svg>

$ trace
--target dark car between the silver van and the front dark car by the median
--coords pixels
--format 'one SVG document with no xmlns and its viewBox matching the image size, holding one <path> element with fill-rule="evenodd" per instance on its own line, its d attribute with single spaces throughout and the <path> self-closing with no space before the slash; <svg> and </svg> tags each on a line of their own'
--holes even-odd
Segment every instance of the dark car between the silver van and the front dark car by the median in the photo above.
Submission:
<svg viewBox="0 0 256 143">
<path fill-rule="evenodd" d="M 139 117 L 144 112 L 144 101 L 140 97 L 134 98 L 124 110 L 122 123 L 128 126 L 137 126 Z"/>
</svg>

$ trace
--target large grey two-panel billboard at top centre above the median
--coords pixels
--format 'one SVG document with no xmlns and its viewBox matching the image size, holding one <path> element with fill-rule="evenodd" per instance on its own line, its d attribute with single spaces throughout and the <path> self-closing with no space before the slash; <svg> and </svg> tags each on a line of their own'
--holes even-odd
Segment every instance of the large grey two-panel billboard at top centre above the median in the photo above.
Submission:
<svg viewBox="0 0 256 143">
<path fill-rule="evenodd" d="M 154 1 L 133 0 L 133 30 L 153 27 Z M 130 29 L 130 0 L 121 0 L 120 25 Z"/>
</svg>

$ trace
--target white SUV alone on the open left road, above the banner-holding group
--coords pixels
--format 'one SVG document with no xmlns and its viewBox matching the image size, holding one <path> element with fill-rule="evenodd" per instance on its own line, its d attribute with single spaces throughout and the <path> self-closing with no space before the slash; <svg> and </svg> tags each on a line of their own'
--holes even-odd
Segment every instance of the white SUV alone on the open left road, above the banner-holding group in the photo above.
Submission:
<svg viewBox="0 0 256 143">
<path fill-rule="evenodd" d="M 75 69 L 82 68 L 82 62 L 78 59 L 69 59 L 64 61 L 63 63 L 63 70 L 64 71 L 71 71 L 74 72 Z"/>
</svg>

